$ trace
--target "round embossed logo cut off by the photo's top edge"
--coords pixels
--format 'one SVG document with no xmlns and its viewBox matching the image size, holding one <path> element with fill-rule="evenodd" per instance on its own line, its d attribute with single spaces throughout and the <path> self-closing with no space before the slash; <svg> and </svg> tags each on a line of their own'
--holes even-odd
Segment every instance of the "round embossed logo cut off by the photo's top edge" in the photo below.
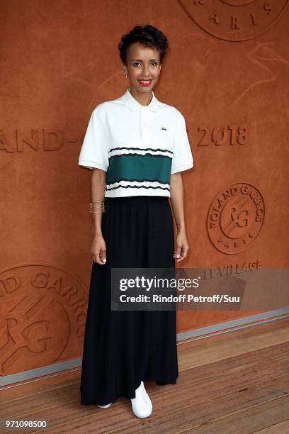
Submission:
<svg viewBox="0 0 289 434">
<path fill-rule="evenodd" d="M 276 23 L 288 0 L 179 0 L 183 11 L 216 38 L 256 38 Z"/>
</svg>

